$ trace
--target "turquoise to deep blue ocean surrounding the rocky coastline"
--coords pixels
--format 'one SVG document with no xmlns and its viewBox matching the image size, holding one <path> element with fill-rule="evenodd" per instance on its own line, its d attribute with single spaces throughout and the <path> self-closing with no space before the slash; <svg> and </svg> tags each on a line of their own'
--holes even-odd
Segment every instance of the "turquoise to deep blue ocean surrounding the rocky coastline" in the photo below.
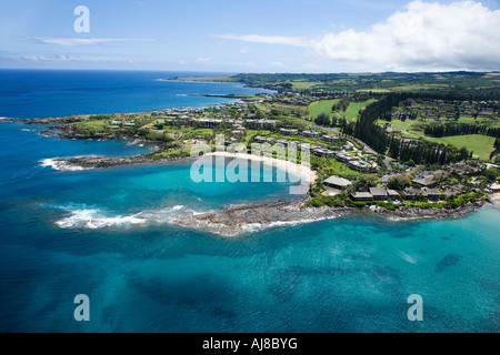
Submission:
<svg viewBox="0 0 500 355">
<path fill-rule="evenodd" d="M 259 92 L 158 81 L 178 74 L 0 71 L 0 116 L 200 106 L 224 100 L 182 94 Z M 456 220 L 359 214 L 222 237 L 171 219 L 286 200 L 289 185 L 196 184 L 190 163 L 56 171 L 41 162 L 149 148 L 41 130 L 0 121 L 0 332 L 500 331 L 496 207 Z M 90 322 L 73 318 L 78 294 L 90 298 Z M 411 294 L 423 298 L 422 322 L 407 317 Z"/>
</svg>

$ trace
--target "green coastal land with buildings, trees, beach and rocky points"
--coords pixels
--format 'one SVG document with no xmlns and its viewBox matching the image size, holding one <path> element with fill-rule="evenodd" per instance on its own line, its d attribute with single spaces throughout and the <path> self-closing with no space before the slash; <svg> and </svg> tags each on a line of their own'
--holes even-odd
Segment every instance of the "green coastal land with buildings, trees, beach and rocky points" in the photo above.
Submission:
<svg viewBox="0 0 500 355">
<path fill-rule="evenodd" d="M 492 164 L 499 152 L 498 138 L 490 161 L 481 162 L 477 158 L 472 159 L 472 152 L 464 148 L 459 150 L 450 144 L 428 143 L 414 136 L 423 134 L 424 131 L 433 134 L 442 132 L 438 131 L 437 126 L 442 123 L 447 124 L 450 132 L 452 128 L 458 134 L 467 134 L 472 131 L 468 125 L 471 123 L 468 123 L 469 119 L 462 120 L 460 114 L 476 115 L 479 123 L 473 128 L 473 132 L 498 135 L 497 128 L 500 128 L 500 122 L 498 101 L 494 100 L 497 89 L 493 87 L 490 90 L 493 94 L 489 92 L 488 95 L 482 89 L 476 89 L 471 84 L 472 80 L 477 80 L 477 84 L 484 88 L 483 75 L 463 75 L 468 87 L 463 87 L 460 94 L 448 93 L 450 98 L 454 98 L 452 104 L 448 103 L 452 99 L 440 99 L 448 98 L 442 93 L 444 89 L 439 88 L 439 94 L 436 93 L 434 90 L 438 89 L 432 84 L 432 80 L 428 81 L 429 75 L 423 75 L 421 81 L 428 82 L 426 90 L 432 90 L 432 93 L 422 91 L 422 88 L 409 88 L 411 85 L 401 82 L 397 82 L 394 89 L 384 87 L 353 90 L 352 85 L 346 84 L 344 79 L 342 83 L 334 81 L 334 75 L 311 75 L 308 81 L 302 81 L 300 75 L 292 74 L 274 75 L 276 78 L 267 74 L 239 74 L 169 80 L 240 82 L 253 88 L 277 90 L 277 93 L 256 97 L 192 94 L 234 99 L 234 103 L 198 109 L 171 109 L 164 112 L 4 121 L 47 125 L 47 130 L 40 133 L 47 136 L 126 140 L 131 144 L 153 146 L 151 153 L 136 156 L 69 156 L 47 159 L 42 162 L 44 166 L 62 171 L 193 161 L 198 158 L 190 156 L 191 148 L 197 143 L 213 146 L 216 134 L 229 138 L 224 142 L 226 145 L 242 143 L 249 148 L 254 142 L 282 143 L 284 146 L 291 143 L 308 145 L 311 149 L 310 166 L 226 151 L 206 154 L 257 160 L 286 169 L 311 182 L 309 194 L 301 201 L 254 203 L 211 213 L 182 215 L 182 219 L 177 221 L 180 225 L 196 226 L 226 236 L 359 212 L 376 213 L 396 221 L 457 217 L 477 211 L 488 200 L 493 204 L 500 203 L 496 183 L 499 170 L 498 165 Z M 382 77 L 386 79 L 381 82 L 390 81 L 386 75 Z M 416 75 L 418 77 L 420 74 Z M 491 84 L 492 79 L 488 75 L 486 78 Z M 364 80 L 364 77 L 351 79 Z M 453 80 L 456 88 L 462 83 L 462 79 L 453 77 Z M 336 85 L 342 87 L 343 91 L 336 91 Z M 426 84 L 421 83 L 420 87 L 422 85 Z M 403 87 L 409 91 L 397 93 L 396 97 L 392 94 L 394 91 L 402 91 Z M 466 100 L 468 95 L 471 98 L 469 101 Z M 489 101 L 479 101 L 479 98 L 484 95 Z M 357 110 L 359 112 L 354 112 Z M 431 120 L 430 124 L 427 123 L 428 120 Z M 444 122 L 446 120 L 453 122 Z M 399 123 L 404 121 L 412 124 Z M 457 121 L 460 125 L 454 123 Z M 362 128 L 361 133 L 357 131 L 358 126 Z M 389 145 L 379 141 L 382 138 L 388 142 L 383 144 Z M 331 181 L 333 185 L 329 183 Z M 336 181 L 348 181 L 348 184 L 336 186 Z M 497 185 L 497 190 L 491 189 L 493 185 Z M 387 193 L 392 196 L 396 193 L 398 197 L 387 199 L 387 195 L 383 196 Z M 422 197 L 427 195 L 428 199 Z"/>
</svg>

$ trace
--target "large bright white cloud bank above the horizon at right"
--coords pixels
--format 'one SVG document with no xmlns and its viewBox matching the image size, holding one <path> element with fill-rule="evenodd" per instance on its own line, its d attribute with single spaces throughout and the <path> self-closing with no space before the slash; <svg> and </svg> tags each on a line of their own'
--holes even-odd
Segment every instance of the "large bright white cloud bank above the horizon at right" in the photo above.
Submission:
<svg viewBox="0 0 500 355">
<path fill-rule="evenodd" d="M 480 2 L 412 1 L 369 31 L 317 39 L 219 34 L 244 42 L 310 48 L 318 59 L 354 71 L 500 70 L 500 10 Z M 310 58 L 310 55 L 309 55 Z M 310 59 L 309 59 L 310 60 Z"/>
</svg>

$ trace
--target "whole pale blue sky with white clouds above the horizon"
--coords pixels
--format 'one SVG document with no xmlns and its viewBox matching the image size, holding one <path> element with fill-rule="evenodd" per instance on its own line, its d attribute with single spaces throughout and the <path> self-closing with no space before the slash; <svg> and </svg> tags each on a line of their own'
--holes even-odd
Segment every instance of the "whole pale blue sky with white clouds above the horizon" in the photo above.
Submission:
<svg viewBox="0 0 500 355">
<path fill-rule="evenodd" d="M 77 33 L 78 6 L 90 32 Z M 0 68 L 500 70 L 500 3 L 1 0 Z"/>
</svg>

